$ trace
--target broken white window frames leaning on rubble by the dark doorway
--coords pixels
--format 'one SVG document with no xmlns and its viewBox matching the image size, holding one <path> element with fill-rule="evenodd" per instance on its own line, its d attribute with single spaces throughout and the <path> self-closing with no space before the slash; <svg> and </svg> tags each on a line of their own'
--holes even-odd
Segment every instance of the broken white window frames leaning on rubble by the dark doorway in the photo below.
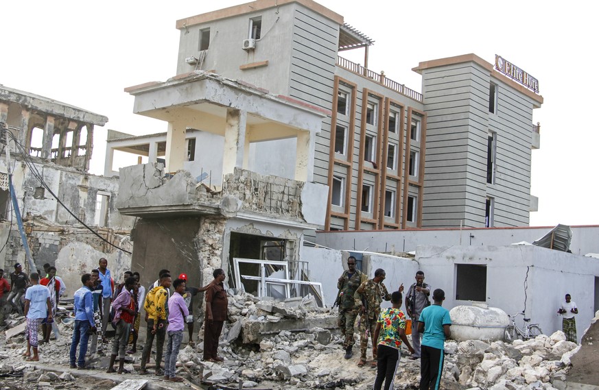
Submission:
<svg viewBox="0 0 599 390">
<path fill-rule="evenodd" d="M 239 273 L 239 263 L 246 264 L 257 264 L 259 265 L 259 276 L 255 275 L 242 275 Z M 285 271 L 285 279 L 281 278 L 270 278 L 266 276 L 266 266 L 273 265 L 276 267 L 283 267 Z M 252 258 L 233 258 L 233 269 L 235 270 L 235 287 L 237 289 L 243 288 L 245 290 L 242 279 L 244 280 L 256 280 L 258 282 L 258 297 L 266 297 L 268 296 L 267 285 L 274 284 L 284 287 L 285 298 L 292 298 L 292 289 L 291 286 L 293 284 L 303 284 L 307 286 L 311 286 L 311 291 L 314 292 L 316 303 L 320 307 L 325 307 L 325 299 L 324 292 L 322 291 L 322 284 L 320 282 L 309 282 L 306 280 L 296 280 L 289 278 L 289 267 L 290 265 L 286 261 L 277 261 L 277 260 L 256 260 Z M 298 291 L 298 289 L 293 289 L 294 291 Z"/>
</svg>

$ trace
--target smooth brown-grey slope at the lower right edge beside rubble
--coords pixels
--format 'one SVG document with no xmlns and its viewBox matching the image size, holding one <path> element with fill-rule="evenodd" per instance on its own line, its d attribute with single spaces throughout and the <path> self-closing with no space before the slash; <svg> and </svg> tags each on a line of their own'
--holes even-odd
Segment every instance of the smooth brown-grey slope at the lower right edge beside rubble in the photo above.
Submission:
<svg viewBox="0 0 599 390">
<path fill-rule="evenodd" d="M 572 369 L 566 378 L 568 382 L 585 385 L 599 385 L 599 321 L 591 324 L 588 332 L 580 341 L 580 350 L 570 361 Z"/>
</svg>

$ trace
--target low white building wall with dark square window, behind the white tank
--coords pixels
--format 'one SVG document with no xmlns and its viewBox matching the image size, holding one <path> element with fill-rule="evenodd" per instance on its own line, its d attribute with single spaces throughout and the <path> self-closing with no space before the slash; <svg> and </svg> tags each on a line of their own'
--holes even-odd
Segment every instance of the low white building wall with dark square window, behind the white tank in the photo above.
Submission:
<svg viewBox="0 0 599 390">
<path fill-rule="evenodd" d="M 486 265 L 486 303 L 508 314 L 521 312 L 539 323 L 543 333 L 561 330 L 557 309 L 570 293 L 578 305 L 578 339 L 594 317 L 595 276 L 599 260 L 540 247 L 470 247 L 421 245 L 416 261 L 433 289 L 445 291 L 448 309 L 456 300 L 456 264 Z M 477 282 L 473 280 L 472 282 Z M 522 317 L 517 324 L 522 325 Z"/>
</svg>

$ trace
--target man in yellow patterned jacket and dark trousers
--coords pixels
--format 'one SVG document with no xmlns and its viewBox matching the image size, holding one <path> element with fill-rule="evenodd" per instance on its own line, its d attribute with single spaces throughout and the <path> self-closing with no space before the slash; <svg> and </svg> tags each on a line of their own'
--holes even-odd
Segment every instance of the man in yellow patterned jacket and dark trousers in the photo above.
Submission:
<svg viewBox="0 0 599 390">
<path fill-rule="evenodd" d="M 141 352 L 141 374 L 148 374 L 145 365 L 152 353 L 154 336 L 156 337 L 156 375 L 160 376 L 162 374 L 160 363 L 168 324 L 168 289 L 170 289 L 171 283 L 170 274 L 163 273 L 160 277 L 160 285 L 151 289 L 145 297 L 143 309 L 145 310 L 145 321 L 148 324 L 145 345 L 143 352 Z"/>
</svg>

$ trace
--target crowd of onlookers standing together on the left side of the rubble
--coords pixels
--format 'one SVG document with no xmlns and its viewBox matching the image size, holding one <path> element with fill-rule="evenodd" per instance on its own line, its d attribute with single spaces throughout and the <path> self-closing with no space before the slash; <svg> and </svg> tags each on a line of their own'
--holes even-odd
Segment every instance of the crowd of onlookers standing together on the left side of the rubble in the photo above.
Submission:
<svg viewBox="0 0 599 390">
<path fill-rule="evenodd" d="M 40 278 L 39 271 L 27 275 L 18 263 L 14 269 L 14 273 L 10 274 L 10 284 L 3 278 L 4 272 L 0 269 L 0 302 L 10 304 L 14 311 L 25 315 L 27 350 L 23 356 L 27 361 L 38 361 L 38 346 L 50 341 L 53 326 L 56 326 L 54 317 L 58 300 L 66 286 L 56 276 L 56 268 L 49 264 L 44 266 L 43 278 Z M 175 364 L 186 324 L 189 344 L 193 345 L 193 297 L 200 292 L 205 292 L 206 300 L 204 360 L 222 361 L 218 356 L 218 339 L 228 306 L 223 284 L 225 273 L 222 269 L 215 269 L 213 277 L 214 280 L 204 287 L 190 287 L 187 286 L 186 273 L 172 278 L 168 269 L 161 269 L 158 279 L 146 293 L 138 272 L 125 271 L 122 282 L 117 284 L 108 269 L 108 260 L 100 258 L 97 268 L 81 276 L 82 285 L 73 295 L 75 317 L 69 352 L 71 368 L 88 368 L 86 356 L 89 344 L 89 355 L 93 356 L 108 352 L 108 343 L 112 343 L 107 372 L 123 374 L 126 354 L 137 351 L 141 316 L 145 315 L 147 326 L 140 373 L 148 374 L 146 367 L 156 341 L 154 374 L 180 382 L 183 379 L 175 375 Z M 8 293 L 8 298 L 3 298 L 5 293 Z M 24 296 L 23 306 L 20 304 L 21 296 Z M 109 323 L 115 329 L 115 337 L 111 340 L 106 338 Z M 165 368 L 162 370 L 165 341 Z M 118 367 L 115 368 L 116 363 Z"/>
</svg>

